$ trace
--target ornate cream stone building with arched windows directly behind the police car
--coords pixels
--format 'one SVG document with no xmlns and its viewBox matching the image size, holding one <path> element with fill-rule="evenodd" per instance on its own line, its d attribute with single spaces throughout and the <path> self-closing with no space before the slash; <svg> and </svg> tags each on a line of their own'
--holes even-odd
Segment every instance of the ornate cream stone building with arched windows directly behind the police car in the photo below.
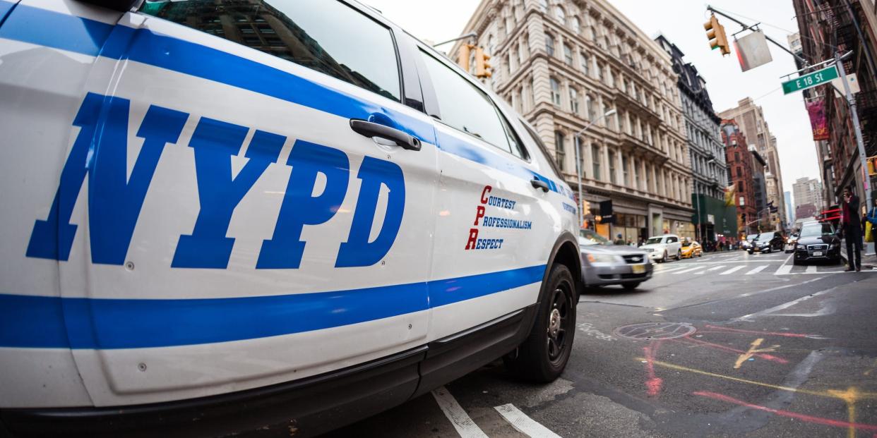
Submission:
<svg viewBox="0 0 877 438">
<path fill-rule="evenodd" d="M 617 222 L 589 226 L 634 242 L 695 236 L 677 76 L 657 43 L 604 0 L 482 0 L 467 32 L 478 37 L 454 46 L 452 59 L 462 43 L 485 47 L 487 82 L 536 128 L 574 188 L 581 166 L 586 214 L 613 202 Z"/>
</svg>

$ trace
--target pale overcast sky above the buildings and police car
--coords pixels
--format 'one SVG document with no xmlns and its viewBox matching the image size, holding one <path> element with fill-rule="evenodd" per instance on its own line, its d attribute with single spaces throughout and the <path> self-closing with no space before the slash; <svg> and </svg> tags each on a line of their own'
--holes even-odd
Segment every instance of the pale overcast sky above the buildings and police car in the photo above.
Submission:
<svg viewBox="0 0 877 438">
<path fill-rule="evenodd" d="M 383 12 L 384 16 L 417 38 L 431 41 L 460 35 L 478 5 L 477 0 L 362 1 Z M 755 99 L 755 103 L 764 109 L 770 131 L 777 138 L 784 190 L 791 192 L 792 183 L 797 178 L 820 179 L 816 148 L 802 95 L 800 92 L 782 94 L 781 76 L 797 69 L 791 55 L 771 46 L 773 62 L 742 73 L 734 53 L 723 58 L 718 51 L 709 49 L 703 30 L 703 23 L 709 19 L 706 4 L 692 0 L 609 1 L 646 35 L 655 37 L 663 33 L 685 53 L 684 59 L 693 63 L 707 81 L 709 97 L 717 112 L 737 106 L 737 102 L 746 96 Z M 712 6 L 732 12 L 731 15 L 746 23 L 762 23 L 765 33 L 783 44 L 790 33 L 797 32 L 795 10 L 789 0 L 715 0 Z M 719 21 L 729 38 L 731 33 L 739 30 L 739 26 L 728 19 L 719 17 Z M 754 140 L 750 139 L 750 143 Z"/>
</svg>

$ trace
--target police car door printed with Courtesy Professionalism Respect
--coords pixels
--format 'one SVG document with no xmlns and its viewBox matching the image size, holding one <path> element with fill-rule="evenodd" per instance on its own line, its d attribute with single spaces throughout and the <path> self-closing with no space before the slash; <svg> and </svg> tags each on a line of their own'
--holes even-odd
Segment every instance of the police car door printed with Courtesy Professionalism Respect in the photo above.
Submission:
<svg viewBox="0 0 877 438">
<path fill-rule="evenodd" d="M 560 230 L 551 213 L 559 205 L 550 203 L 560 195 L 470 76 L 425 48 L 420 60 L 438 103 L 430 112 L 440 173 L 430 287 L 436 340 L 536 302 L 551 230 Z"/>
</svg>

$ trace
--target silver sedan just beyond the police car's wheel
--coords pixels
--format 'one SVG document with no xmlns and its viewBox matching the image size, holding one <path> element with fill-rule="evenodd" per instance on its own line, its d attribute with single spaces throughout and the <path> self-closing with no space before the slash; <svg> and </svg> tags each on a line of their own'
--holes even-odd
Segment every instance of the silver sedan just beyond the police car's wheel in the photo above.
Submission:
<svg viewBox="0 0 877 438">
<path fill-rule="evenodd" d="M 612 244 L 591 230 L 579 230 L 579 245 L 585 286 L 621 285 L 631 290 L 652 278 L 652 262 L 643 250 Z"/>
</svg>

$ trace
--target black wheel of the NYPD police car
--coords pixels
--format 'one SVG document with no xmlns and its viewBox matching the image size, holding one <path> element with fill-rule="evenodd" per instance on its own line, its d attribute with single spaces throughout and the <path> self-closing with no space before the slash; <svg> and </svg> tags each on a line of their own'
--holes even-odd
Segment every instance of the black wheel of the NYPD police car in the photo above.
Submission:
<svg viewBox="0 0 877 438">
<path fill-rule="evenodd" d="M 530 335 L 518 347 L 517 357 L 503 361 L 521 378 L 552 382 L 567 366 L 575 336 L 573 285 L 567 266 L 552 266 Z"/>
</svg>

